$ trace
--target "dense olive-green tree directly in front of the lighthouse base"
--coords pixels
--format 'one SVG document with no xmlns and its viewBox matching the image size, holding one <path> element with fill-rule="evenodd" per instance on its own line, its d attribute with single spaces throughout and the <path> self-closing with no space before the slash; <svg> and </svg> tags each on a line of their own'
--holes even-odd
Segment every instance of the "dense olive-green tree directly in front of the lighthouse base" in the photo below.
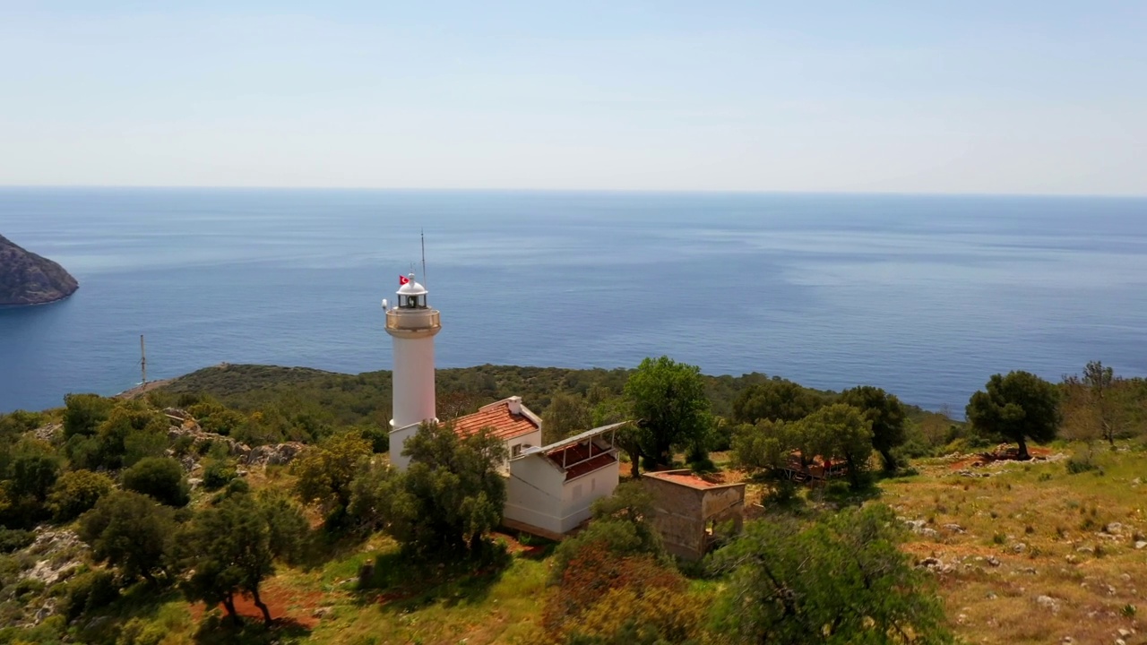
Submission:
<svg viewBox="0 0 1147 645">
<path fill-rule="evenodd" d="M 459 438 L 450 426 L 423 423 L 406 441 L 411 464 L 392 487 L 384 530 L 426 557 L 477 555 L 501 522 L 506 444 L 485 432 Z"/>
</svg>

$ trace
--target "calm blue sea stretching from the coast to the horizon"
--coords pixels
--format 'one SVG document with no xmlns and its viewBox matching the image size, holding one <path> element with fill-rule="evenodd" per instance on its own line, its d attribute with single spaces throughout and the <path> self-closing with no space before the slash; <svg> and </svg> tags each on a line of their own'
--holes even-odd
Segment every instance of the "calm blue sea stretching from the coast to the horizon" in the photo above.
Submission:
<svg viewBox="0 0 1147 645">
<path fill-rule="evenodd" d="M 1147 199 L 0 189 L 71 298 L 0 310 L 0 411 L 228 363 L 390 368 L 421 273 L 443 367 L 634 366 L 962 411 L 988 376 L 1147 375 Z"/>
</svg>

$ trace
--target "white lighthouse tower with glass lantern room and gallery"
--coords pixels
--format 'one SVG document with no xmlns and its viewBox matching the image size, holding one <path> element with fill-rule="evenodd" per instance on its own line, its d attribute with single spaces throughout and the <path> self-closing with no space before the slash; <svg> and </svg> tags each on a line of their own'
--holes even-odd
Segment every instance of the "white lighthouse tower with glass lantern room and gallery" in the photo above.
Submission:
<svg viewBox="0 0 1147 645">
<path fill-rule="evenodd" d="M 434 337 L 442 331 L 438 311 L 427 305 L 427 290 L 411 273 L 398 288 L 398 306 L 387 308 L 387 333 L 395 339 L 393 419 L 390 420 L 390 463 L 400 471 L 409 464 L 403 444 L 423 421 L 437 421 L 434 386 Z"/>
</svg>

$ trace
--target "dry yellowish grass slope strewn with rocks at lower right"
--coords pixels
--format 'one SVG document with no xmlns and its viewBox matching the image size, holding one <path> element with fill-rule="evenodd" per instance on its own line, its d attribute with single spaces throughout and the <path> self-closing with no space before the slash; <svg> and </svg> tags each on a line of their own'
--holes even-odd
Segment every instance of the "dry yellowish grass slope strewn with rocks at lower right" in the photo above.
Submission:
<svg viewBox="0 0 1147 645">
<path fill-rule="evenodd" d="M 933 460 L 881 484 L 882 502 L 926 522 L 906 550 L 943 562 L 941 593 L 961 638 L 1114 643 L 1124 629 L 1136 632 L 1129 644 L 1145 642 L 1133 607 L 1147 611 L 1147 549 L 1134 549 L 1147 534 L 1147 488 L 1134 481 L 1147 479 L 1147 453 L 1099 463 L 1080 474 L 1062 460 L 997 464 L 973 479 Z"/>
</svg>

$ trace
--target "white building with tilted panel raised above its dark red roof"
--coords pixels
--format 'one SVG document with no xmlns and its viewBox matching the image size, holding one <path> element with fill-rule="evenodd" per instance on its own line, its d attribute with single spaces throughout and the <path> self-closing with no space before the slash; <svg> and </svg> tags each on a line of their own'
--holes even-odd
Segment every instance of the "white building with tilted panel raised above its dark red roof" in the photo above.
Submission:
<svg viewBox="0 0 1147 645">
<path fill-rule="evenodd" d="M 612 423 L 509 460 L 502 523 L 552 539 L 561 539 L 590 519 L 590 506 L 617 488 L 617 449 Z"/>
</svg>

